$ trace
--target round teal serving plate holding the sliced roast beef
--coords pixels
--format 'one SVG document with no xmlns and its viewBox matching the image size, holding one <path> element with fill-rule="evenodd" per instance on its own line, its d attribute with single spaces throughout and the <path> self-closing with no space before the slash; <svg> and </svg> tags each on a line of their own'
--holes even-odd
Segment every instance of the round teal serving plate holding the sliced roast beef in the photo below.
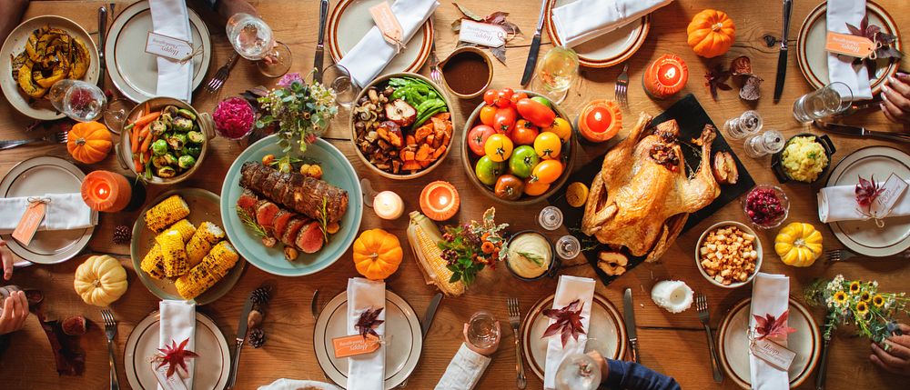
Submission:
<svg viewBox="0 0 910 390">
<path fill-rule="evenodd" d="M 237 215 L 237 200 L 243 192 L 240 187 L 240 166 L 248 161 L 262 161 L 265 155 L 284 155 L 278 146 L 278 135 L 269 135 L 256 144 L 249 145 L 227 170 L 221 187 L 221 216 L 225 232 L 238 253 L 249 264 L 279 276 L 303 276 L 315 274 L 334 264 L 354 242 L 363 216 L 363 195 L 354 166 L 341 151 L 322 140 L 307 146 L 306 157 L 319 160 L 322 165 L 322 180 L 348 192 L 348 210 L 339 222 L 340 230 L 329 236 L 329 243 L 315 254 L 298 255 L 297 260 L 285 259 L 283 245 L 267 247 L 251 229 L 240 221 Z"/>
</svg>

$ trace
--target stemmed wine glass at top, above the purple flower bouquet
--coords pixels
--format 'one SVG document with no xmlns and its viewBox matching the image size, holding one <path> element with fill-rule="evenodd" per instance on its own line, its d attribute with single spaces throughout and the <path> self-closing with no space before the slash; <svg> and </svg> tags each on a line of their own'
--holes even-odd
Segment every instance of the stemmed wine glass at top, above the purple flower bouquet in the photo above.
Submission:
<svg viewBox="0 0 910 390">
<path fill-rule="evenodd" d="M 288 73 L 291 63 L 290 48 L 275 40 L 271 27 L 261 18 L 238 13 L 227 19 L 227 39 L 237 53 L 256 61 L 259 72 L 268 77 Z"/>
</svg>

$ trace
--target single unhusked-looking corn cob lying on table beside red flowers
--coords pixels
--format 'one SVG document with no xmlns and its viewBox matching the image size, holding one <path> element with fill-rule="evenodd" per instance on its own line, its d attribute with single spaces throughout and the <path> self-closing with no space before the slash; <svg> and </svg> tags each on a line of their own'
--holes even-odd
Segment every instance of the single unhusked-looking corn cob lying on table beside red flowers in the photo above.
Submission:
<svg viewBox="0 0 910 390">
<path fill-rule="evenodd" d="M 436 285 L 445 295 L 462 295 L 465 291 L 463 283 L 460 281 L 449 283 L 452 272 L 446 268 L 446 261 L 442 258 L 440 241 L 442 241 L 440 228 L 430 221 L 430 218 L 417 211 L 410 213 L 408 242 L 427 285 Z"/>
</svg>

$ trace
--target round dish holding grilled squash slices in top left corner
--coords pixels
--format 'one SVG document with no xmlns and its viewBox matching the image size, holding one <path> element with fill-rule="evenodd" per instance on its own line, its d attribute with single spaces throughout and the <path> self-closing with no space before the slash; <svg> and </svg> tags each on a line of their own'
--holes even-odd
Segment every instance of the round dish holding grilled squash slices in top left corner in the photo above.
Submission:
<svg viewBox="0 0 910 390">
<path fill-rule="evenodd" d="M 86 44 L 91 64 L 88 65 L 88 71 L 82 78 L 83 80 L 90 84 L 97 84 L 101 68 L 98 66 L 98 48 L 91 35 L 88 35 L 86 29 L 66 17 L 56 15 L 35 16 L 15 27 L 13 32 L 6 37 L 3 48 L 0 49 L 0 87 L 3 89 L 6 100 L 9 101 L 10 105 L 13 105 L 16 111 L 35 119 L 48 121 L 60 119 L 64 115 L 58 112 L 47 99 L 42 98 L 35 101 L 31 96 L 25 95 L 13 79 L 10 63 L 11 58 L 25 50 L 25 42 L 28 41 L 28 35 L 31 35 L 35 29 L 45 25 L 61 28 L 69 35 L 79 38 Z"/>
</svg>

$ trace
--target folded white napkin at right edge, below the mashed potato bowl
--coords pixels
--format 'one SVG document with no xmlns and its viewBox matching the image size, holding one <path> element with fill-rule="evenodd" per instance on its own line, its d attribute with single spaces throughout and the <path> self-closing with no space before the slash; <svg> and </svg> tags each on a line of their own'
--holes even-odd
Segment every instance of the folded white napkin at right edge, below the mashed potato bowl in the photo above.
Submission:
<svg viewBox="0 0 910 390">
<path fill-rule="evenodd" d="M 905 180 L 910 184 L 910 180 Z M 868 219 L 859 212 L 856 204 L 855 185 L 824 187 L 818 192 L 818 219 L 827 224 L 837 221 L 863 221 Z M 908 190 L 910 192 L 910 190 Z M 901 195 L 888 217 L 910 215 L 910 195 Z"/>
</svg>

